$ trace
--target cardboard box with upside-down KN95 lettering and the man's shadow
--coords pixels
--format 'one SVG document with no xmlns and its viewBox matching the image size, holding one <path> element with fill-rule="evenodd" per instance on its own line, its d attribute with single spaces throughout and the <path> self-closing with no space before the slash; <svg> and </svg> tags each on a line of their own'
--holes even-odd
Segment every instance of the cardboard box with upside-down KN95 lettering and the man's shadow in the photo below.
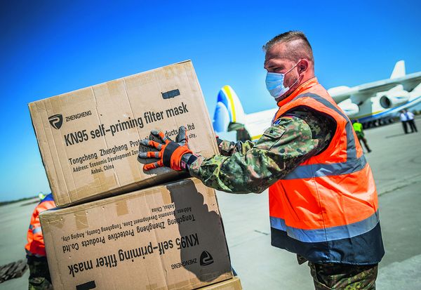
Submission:
<svg viewBox="0 0 421 290">
<path fill-rule="evenodd" d="M 55 290 L 196 289 L 232 278 L 215 191 L 194 178 L 40 219 Z"/>
</svg>

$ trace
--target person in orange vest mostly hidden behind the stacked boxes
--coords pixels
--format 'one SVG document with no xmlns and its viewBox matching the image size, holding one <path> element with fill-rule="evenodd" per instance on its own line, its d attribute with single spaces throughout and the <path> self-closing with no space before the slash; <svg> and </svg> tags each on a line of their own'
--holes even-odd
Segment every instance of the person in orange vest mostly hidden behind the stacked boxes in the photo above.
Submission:
<svg viewBox="0 0 421 290">
<path fill-rule="evenodd" d="M 39 202 L 32 213 L 27 233 L 28 243 L 25 246 L 27 263 L 29 265 L 29 290 L 53 289 L 50 270 L 48 270 L 44 237 L 41 231 L 41 223 L 39 222 L 39 213 L 54 207 L 55 202 L 53 195 L 50 193 L 41 199 L 41 202 Z"/>
</svg>

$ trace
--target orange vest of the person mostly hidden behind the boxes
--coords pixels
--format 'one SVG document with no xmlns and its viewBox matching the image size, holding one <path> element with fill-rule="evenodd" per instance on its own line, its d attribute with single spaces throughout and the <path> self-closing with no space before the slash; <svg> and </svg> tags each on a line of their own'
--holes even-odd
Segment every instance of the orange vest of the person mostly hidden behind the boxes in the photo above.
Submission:
<svg viewBox="0 0 421 290">
<path fill-rule="evenodd" d="M 39 213 L 53 208 L 55 208 L 53 195 L 49 194 L 34 209 L 27 233 L 28 243 L 25 246 L 25 250 L 29 256 L 46 256 L 46 247 L 42 235 L 41 223 L 39 222 Z"/>
</svg>

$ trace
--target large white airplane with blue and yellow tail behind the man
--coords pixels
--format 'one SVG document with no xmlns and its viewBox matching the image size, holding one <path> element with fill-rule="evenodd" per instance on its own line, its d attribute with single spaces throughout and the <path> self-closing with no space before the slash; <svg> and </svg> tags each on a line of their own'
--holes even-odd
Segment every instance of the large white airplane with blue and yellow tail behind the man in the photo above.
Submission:
<svg viewBox="0 0 421 290">
<path fill-rule="evenodd" d="M 421 72 L 406 74 L 405 62 L 399 60 L 389 79 L 361 84 L 350 88 L 337 86 L 328 93 L 349 119 L 358 119 L 364 128 L 392 123 L 399 111 L 421 103 Z M 241 101 L 231 86 L 223 86 L 217 98 L 213 129 L 219 136 L 246 130 L 250 140 L 258 140 L 269 128 L 274 114 L 270 110 L 246 114 Z M 229 139 L 235 139 L 231 133 Z M 243 135 L 242 135 L 243 136 Z"/>
</svg>

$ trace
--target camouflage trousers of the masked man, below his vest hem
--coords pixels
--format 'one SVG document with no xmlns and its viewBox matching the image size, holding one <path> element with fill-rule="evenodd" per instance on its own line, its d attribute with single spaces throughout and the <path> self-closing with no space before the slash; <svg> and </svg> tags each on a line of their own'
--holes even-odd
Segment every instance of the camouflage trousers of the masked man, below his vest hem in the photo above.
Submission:
<svg viewBox="0 0 421 290">
<path fill-rule="evenodd" d="M 316 264 L 309 262 L 316 290 L 374 290 L 377 265 Z"/>
</svg>

